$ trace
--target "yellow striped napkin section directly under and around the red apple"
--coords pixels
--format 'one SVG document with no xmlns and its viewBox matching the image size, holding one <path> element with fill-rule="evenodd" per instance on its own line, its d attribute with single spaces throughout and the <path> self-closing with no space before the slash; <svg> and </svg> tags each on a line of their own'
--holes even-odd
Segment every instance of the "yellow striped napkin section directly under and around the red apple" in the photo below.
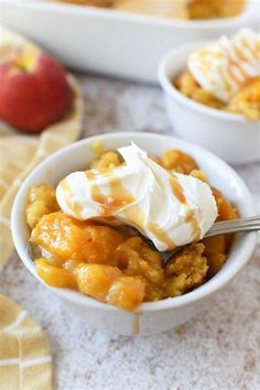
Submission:
<svg viewBox="0 0 260 390">
<path fill-rule="evenodd" d="M 0 57 L 11 50 L 33 44 L 0 25 Z M 83 121 L 83 96 L 71 75 L 67 76 L 73 90 L 71 112 L 40 136 L 23 136 L 0 122 L 0 269 L 13 251 L 10 230 L 12 203 L 18 188 L 26 175 L 48 154 L 78 139 Z"/>
</svg>

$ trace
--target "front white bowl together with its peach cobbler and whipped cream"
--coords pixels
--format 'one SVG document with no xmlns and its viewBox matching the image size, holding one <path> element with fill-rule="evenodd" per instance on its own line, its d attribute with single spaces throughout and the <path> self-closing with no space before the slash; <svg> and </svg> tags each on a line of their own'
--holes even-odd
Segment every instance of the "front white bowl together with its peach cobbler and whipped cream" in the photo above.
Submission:
<svg viewBox="0 0 260 390">
<path fill-rule="evenodd" d="M 105 150 L 110 150 L 98 160 L 93 151 L 96 141 L 101 142 Z M 148 151 L 149 156 L 139 148 L 129 147 L 131 141 Z M 119 149 L 121 154 L 115 152 L 118 148 L 122 148 Z M 174 151 L 165 153 L 169 149 Z M 133 152 L 139 156 L 136 166 L 139 175 L 128 160 L 128 153 L 132 155 Z M 153 161 L 150 156 L 156 156 L 156 160 Z M 115 133 L 77 142 L 44 161 L 20 189 L 12 212 L 12 231 L 19 254 L 40 280 L 56 286 L 61 282 L 58 289 L 52 290 L 75 313 L 95 326 L 121 334 L 151 334 L 176 326 L 192 315 L 202 297 L 218 290 L 238 272 L 247 262 L 254 243 L 254 235 L 237 238 L 227 259 L 230 241 L 225 243 L 224 238 L 217 239 L 215 243 L 192 242 L 199 239 L 204 235 L 203 229 L 208 229 L 213 224 L 216 218 L 216 203 L 220 215 L 224 213 L 224 219 L 237 215 L 236 208 L 216 191 L 214 198 L 209 185 L 203 182 L 205 175 L 198 171 L 198 166 L 214 187 L 218 187 L 225 197 L 230 197 L 241 216 L 253 213 L 250 195 L 235 172 L 197 147 L 149 133 Z M 90 170 L 86 171 L 87 167 Z M 53 169 L 53 175 L 50 175 L 50 169 Z M 193 174 L 188 175 L 191 172 Z M 142 178 L 144 173 L 150 176 L 147 181 Z M 170 185 L 172 178 L 173 187 Z M 72 186 L 75 182 L 76 187 Z M 42 186 L 43 183 L 45 186 Z M 161 183 L 159 187 L 158 183 Z M 165 183 L 166 194 L 162 189 Z M 183 194 L 180 192 L 180 184 L 184 188 Z M 57 185 L 55 196 L 54 187 Z M 149 192 L 144 191 L 145 199 L 149 201 L 143 203 L 139 195 L 142 188 L 149 187 L 153 187 L 153 191 L 150 198 Z M 170 187 L 171 194 L 174 188 L 175 195 L 169 195 Z M 115 188 L 120 191 L 115 192 Z M 115 197 L 115 194 L 118 195 Z M 160 202 L 156 209 L 153 207 L 153 212 L 148 214 L 149 227 L 147 223 L 142 225 L 141 210 L 145 215 L 145 207 L 148 204 L 153 205 L 156 194 L 173 202 L 172 210 L 174 207 L 175 210 L 182 210 L 176 218 L 169 218 L 172 225 L 163 225 L 164 229 L 160 225 L 161 218 L 165 218 L 165 215 L 169 217 L 169 209 L 166 208 L 166 214 L 163 209 L 160 212 Z M 133 197 L 137 197 L 137 203 Z M 184 197 L 186 207 L 182 204 Z M 193 205 L 199 202 L 201 206 L 194 208 Z M 138 214 L 134 212 L 134 204 L 139 208 Z M 201 215 L 202 207 L 205 219 Z M 188 210 L 189 216 L 185 215 Z M 201 212 L 196 214 L 198 210 Z M 118 230 L 118 226 L 115 229 L 113 224 L 122 221 L 137 227 L 147 236 L 150 235 L 154 245 L 161 249 L 170 248 L 180 237 L 185 240 L 182 243 L 187 246 L 164 267 L 160 253 L 150 249 L 140 237 L 127 230 Z M 154 225 L 156 229 L 153 229 Z M 180 231 L 180 235 L 174 236 L 173 226 L 176 231 L 177 227 L 185 227 L 184 234 Z M 199 229 L 195 229 L 196 226 Z M 36 268 L 26 253 L 30 236 L 41 247 Z M 141 303 L 143 301 L 151 302 Z M 118 310 L 111 304 L 133 312 Z"/>
</svg>

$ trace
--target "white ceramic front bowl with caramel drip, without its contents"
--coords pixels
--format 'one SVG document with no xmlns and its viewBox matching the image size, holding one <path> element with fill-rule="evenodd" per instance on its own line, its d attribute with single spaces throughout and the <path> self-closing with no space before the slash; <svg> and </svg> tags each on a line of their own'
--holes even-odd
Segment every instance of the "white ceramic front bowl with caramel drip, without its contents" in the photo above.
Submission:
<svg viewBox="0 0 260 390">
<path fill-rule="evenodd" d="M 183 150 L 194 156 L 206 172 L 210 183 L 237 204 L 242 216 L 253 215 L 252 199 L 241 178 L 225 162 L 198 147 L 172 137 L 152 133 L 119 132 L 88 138 L 46 159 L 24 181 L 17 195 L 11 221 L 13 240 L 24 266 L 35 278 L 37 278 L 35 268 L 26 254 L 29 229 L 24 209 L 29 188 L 42 183 L 56 185 L 72 171 L 86 169 L 95 158 L 91 144 L 97 140 L 101 141 L 106 149 L 119 148 L 134 141 L 139 147 L 155 155 L 161 155 L 171 148 Z M 90 325 L 123 335 L 154 334 L 184 323 L 202 308 L 205 299 L 227 284 L 247 263 L 254 245 L 256 234 L 253 232 L 238 238 L 227 263 L 210 281 L 183 296 L 144 303 L 136 313 L 118 310 L 75 291 L 50 286 L 47 289 L 59 296 L 75 315 L 80 316 Z M 39 280 L 43 283 L 41 279 Z"/>
</svg>

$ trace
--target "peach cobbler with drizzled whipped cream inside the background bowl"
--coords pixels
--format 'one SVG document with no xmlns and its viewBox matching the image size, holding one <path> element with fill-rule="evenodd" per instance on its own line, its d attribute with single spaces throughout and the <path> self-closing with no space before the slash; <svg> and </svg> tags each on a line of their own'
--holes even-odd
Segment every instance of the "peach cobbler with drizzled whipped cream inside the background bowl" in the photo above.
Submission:
<svg viewBox="0 0 260 390">
<path fill-rule="evenodd" d="M 259 120 L 260 35 L 241 30 L 198 48 L 173 83 L 199 104 Z"/>
</svg>

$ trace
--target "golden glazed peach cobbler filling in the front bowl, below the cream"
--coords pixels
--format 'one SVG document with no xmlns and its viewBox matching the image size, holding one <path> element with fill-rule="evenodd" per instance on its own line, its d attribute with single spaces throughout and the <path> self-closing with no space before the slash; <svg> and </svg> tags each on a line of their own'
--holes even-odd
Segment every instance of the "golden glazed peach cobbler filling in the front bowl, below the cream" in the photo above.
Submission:
<svg viewBox="0 0 260 390">
<path fill-rule="evenodd" d="M 154 158 L 169 173 L 206 181 L 194 159 L 178 150 Z M 123 164 L 108 151 L 88 169 L 110 170 Z M 90 171 L 89 171 L 90 172 Z M 238 217 L 235 206 L 213 188 L 218 220 Z M 182 247 L 166 263 L 132 229 L 116 229 L 93 220 L 80 221 L 61 210 L 55 188 L 32 187 L 26 207 L 30 240 L 41 250 L 35 260 L 43 281 L 74 289 L 117 307 L 132 311 L 142 302 L 174 297 L 202 285 L 227 260 L 230 236 L 217 236 Z"/>
</svg>

